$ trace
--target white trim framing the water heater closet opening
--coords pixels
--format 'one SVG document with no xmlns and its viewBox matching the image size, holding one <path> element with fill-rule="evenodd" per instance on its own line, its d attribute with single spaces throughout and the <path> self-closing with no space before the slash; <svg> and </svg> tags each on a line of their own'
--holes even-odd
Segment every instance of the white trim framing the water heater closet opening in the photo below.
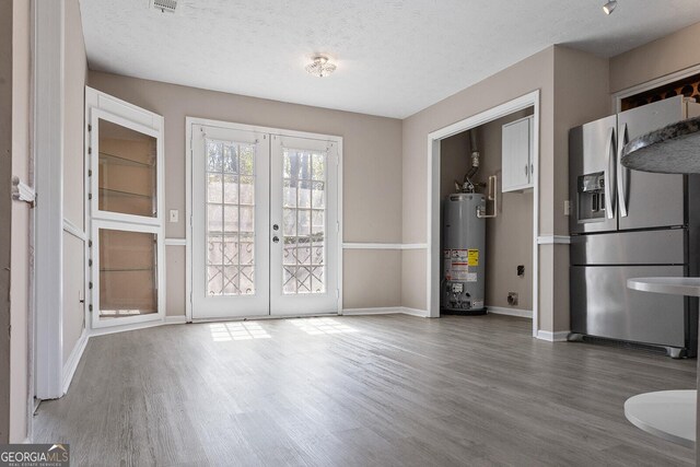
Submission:
<svg viewBox="0 0 700 467">
<path fill-rule="evenodd" d="M 535 177 L 533 180 L 533 337 L 537 337 L 538 331 L 538 246 L 539 236 L 539 95 L 536 90 L 510 102 L 481 112 L 464 120 L 448 125 L 428 135 L 428 252 L 427 252 L 427 302 L 430 317 L 440 316 L 440 141 L 462 131 L 488 124 L 498 118 L 510 115 L 514 112 L 534 107 L 534 141 L 533 141 L 533 164 L 535 166 Z"/>
</svg>

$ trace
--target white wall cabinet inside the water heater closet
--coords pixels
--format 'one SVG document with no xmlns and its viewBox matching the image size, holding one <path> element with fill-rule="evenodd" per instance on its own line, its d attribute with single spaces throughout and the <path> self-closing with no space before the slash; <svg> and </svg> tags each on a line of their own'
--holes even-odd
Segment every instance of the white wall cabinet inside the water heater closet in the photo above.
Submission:
<svg viewBox="0 0 700 467">
<path fill-rule="evenodd" d="M 533 187 L 533 116 L 503 125 L 502 191 L 520 191 Z"/>
</svg>

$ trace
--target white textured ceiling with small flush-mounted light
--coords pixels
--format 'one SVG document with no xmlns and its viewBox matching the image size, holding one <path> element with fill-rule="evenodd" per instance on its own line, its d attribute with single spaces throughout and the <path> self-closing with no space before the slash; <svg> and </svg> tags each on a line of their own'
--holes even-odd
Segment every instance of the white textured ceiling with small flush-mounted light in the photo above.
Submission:
<svg viewBox="0 0 700 467">
<path fill-rule="evenodd" d="M 552 44 L 610 57 L 700 21 L 698 0 L 81 0 L 90 68 L 404 118 Z M 690 45 L 689 45 L 690 46 Z M 693 45 L 697 46 L 697 45 Z M 338 65 L 304 71 L 314 52 Z"/>
</svg>

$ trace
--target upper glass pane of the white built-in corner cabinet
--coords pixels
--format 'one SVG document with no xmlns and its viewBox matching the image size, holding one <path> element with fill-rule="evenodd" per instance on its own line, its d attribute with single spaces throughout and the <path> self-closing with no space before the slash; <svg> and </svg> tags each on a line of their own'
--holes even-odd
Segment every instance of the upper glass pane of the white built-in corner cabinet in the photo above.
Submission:
<svg viewBox="0 0 700 467">
<path fill-rule="evenodd" d="M 98 209 L 155 218 L 158 140 L 109 120 L 98 120 Z"/>
</svg>

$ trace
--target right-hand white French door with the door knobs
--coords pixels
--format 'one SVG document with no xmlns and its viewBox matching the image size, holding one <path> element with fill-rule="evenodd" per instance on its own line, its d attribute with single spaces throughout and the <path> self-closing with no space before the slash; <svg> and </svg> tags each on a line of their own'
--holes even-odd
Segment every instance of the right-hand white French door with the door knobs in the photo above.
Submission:
<svg viewBox="0 0 700 467">
<path fill-rule="evenodd" d="M 338 143 L 272 136 L 270 314 L 338 312 Z"/>
</svg>

